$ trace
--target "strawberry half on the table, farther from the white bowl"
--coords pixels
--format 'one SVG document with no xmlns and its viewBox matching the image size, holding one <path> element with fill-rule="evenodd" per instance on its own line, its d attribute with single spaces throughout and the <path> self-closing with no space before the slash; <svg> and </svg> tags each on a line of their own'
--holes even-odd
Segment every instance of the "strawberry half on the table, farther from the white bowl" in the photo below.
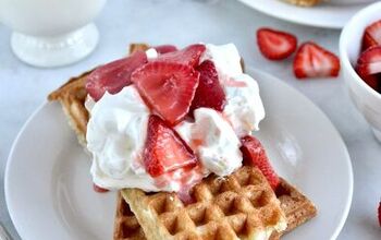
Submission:
<svg viewBox="0 0 381 240">
<path fill-rule="evenodd" d="M 270 60 L 281 60 L 290 57 L 297 46 L 294 35 L 271 28 L 257 31 L 257 44 L 260 52 Z"/>
</svg>

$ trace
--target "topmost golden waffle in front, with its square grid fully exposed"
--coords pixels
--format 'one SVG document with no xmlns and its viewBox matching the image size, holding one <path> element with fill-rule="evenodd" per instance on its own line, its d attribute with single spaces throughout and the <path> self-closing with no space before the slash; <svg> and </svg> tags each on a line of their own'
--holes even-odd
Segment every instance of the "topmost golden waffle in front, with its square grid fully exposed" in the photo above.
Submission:
<svg viewBox="0 0 381 240">
<path fill-rule="evenodd" d="M 279 200 L 251 166 L 204 179 L 193 188 L 195 203 L 186 206 L 175 193 L 126 189 L 122 195 L 147 239 L 257 239 L 286 228 Z"/>
</svg>

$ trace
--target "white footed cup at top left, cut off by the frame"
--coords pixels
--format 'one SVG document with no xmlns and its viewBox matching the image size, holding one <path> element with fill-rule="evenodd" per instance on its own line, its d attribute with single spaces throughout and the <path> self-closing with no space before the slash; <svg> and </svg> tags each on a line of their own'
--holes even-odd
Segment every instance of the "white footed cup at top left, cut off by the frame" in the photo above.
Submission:
<svg viewBox="0 0 381 240">
<path fill-rule="evenodd" d="M 88 56 L 99 33 L 91 21 L 106 0 L 0 0 L 0 22 L 12 28 L 13 52 L 37 67 L 59 67 Z"/>
</svg>

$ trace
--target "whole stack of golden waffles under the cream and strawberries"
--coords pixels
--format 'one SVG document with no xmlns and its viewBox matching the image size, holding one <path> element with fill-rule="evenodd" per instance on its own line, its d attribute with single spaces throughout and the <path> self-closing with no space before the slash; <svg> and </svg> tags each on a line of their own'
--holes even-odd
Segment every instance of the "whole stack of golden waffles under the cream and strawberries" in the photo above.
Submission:
<svg viewBox="0 0 381 240">
<path fill-rule="evenodd" d="M 147 45 L 134 44 L 130 52 L 146 49 Z M 48 97 L 61 103 L 83 145 L 89 119 L 85 108 L 88 73 L 71 79 Z M 314 204 L 284 179 L 273 191 L 253 166 L 243 166 L 226 178 L 211 175 L 192 192 L 194 202 L 185 205 L 175 193 L 119 191 L 113 239 L 258 239 L 270 235 L 279 239 L 317 214 Z"/>
</svg>

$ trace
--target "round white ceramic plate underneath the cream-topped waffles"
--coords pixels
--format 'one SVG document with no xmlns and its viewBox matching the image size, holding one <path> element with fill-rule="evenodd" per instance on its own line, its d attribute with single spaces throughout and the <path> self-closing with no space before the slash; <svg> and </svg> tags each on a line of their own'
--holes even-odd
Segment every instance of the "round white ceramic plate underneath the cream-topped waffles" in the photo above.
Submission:
<svg viewBox="0 0 381 240">
<path fill-rule="evenodd" d="M 341 136 L 302 94 L 266 73 L 249 73 L 259 82 L 267 110 L 258 137 L 276 171 L 319 209 L 284 239 L 334 239 L 353 192 Z M 111 239 L 115 194 L 93 191 L 89 167 L 60 105 L 44 104 L 21 130 L 5 170 L 8 208 L 23 239 Z"/>
</svg>

